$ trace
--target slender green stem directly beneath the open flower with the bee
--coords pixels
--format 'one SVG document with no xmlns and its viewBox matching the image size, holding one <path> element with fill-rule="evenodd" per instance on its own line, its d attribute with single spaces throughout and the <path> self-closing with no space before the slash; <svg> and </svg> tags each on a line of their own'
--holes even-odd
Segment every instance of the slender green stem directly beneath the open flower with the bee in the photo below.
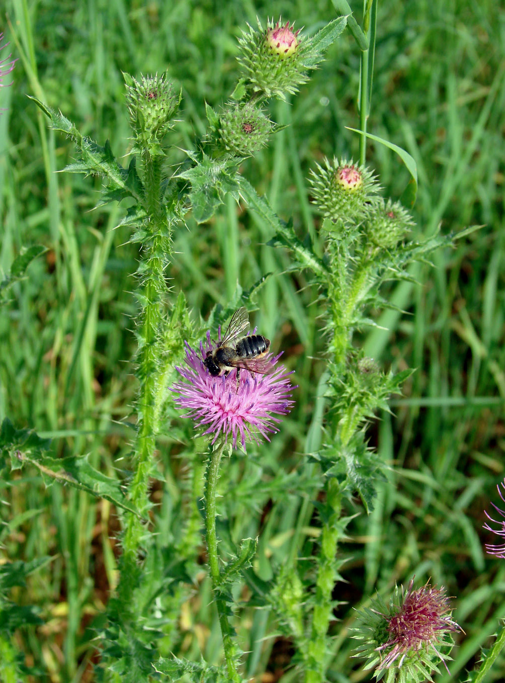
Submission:
<svg viewBox="0 0 505 683">
<path fill-rule="evenodd" d="M 226 667 L 228 668 L 228 676 L 230 681 L 240 683 L 241 677 L 236 671 L 236 661 L 238 660 L 239 652 L 232 637 L 233 629 L 228 621 L 226 600 L 221 596 L 221 572 L 219 571 L 219 555 L 217 553 L 216 491 L 217 480 L 219 479 L 219 463 L 221 462 L 221 456 L 223 455 L 225 445 L 224 440 L 221 439 L 217 441 L 210 450 L 205 488 L 205 526 L 208 565 L 213 583 L 219 624 L 221 626 L 221 635 L 223 637 L 224 657 L 226 660 Z"/>
</svg>

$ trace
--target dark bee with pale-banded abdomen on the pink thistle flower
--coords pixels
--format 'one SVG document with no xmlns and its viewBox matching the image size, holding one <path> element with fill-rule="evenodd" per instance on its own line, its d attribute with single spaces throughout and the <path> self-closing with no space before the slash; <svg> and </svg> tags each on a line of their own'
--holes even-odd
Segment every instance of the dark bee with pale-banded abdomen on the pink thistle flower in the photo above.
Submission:
<svg viewBox="0 0 505 683">
<path fill-rule="evenodd" d="M 273 363 L 267 359 L 270 339 L 263 335 L 247 336 L 249 313 L 245 307 L 236 310 L 228 330 L 217 348 L 208 351 L 204 365 L 213 377 L 228 376 L 236 368 L 236 390 L 241 370 L 266 375 L 273 372 Z"/>
</svg>

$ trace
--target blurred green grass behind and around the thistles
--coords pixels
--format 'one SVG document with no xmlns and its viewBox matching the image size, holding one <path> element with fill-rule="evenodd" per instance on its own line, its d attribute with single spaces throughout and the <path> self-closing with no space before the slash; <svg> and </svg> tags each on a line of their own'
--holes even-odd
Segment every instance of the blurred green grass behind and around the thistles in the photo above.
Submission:
<svg viewBox="0 0 505 683">
<path fill-rule="evenodd" d="M 361 10 L 360 3 L 351 3 Z M 0 29 L 20 57 L 12 87 L 0 89 L 0 267 L 8 271 L 23 245 L 49 251 L 31 264 L 28 277 L 10 292 L 0 317 L 0 415 L 16 426 L 54 439 L 57 454 L 89 453 L 112 475 L 126 467 L 136 380 L 128 361 L 135 352 L 131 316 L 138 253 L 128 234 L 113 228 L 123 208 L 93 210 L 100 180 L 57 173 L 74 148 L 52 133 L 26 95 L 57 107 L 81 130 L 115 154 L 128 146 L 128 114 L 122 71 L 138 76 L 167 70 L 182 87 L 181 122 L 173 142 L 194 145 L 206 128 L 204 102 L 219 107 L 237 77 L 237 42 L 256 14 L 296 20 L 314 33 L 335 12 L 331 2 L 299 0 L 267 4 L 123 0 L 8 0 Z M 5 56 L 5 55 L 2 55 Z M 382 367 L 415 367 L 405 396 L 391 401 L 393 415 L 370 426 L 370 442 L 394 464 L 381 485 L 377 506 L 349 527 L 341 552 L 349 561 L 334 597 L 346 601 L 332 626 L 334 659 L 329 680 L 370 680 L 350 660 L 351 609 L 375 589 L 388 594 L 395 582 L 431 576 L 454 596 L 454 617 L 465 629 L 454 662 L 438 682 L 465 680 L 480 647 L 489 645 L 505 617 L 505 561 L 484 556 L 483 509 L 497 502 L 505 451 L 505 8 L 482 0 L 379 2 L 377 52 L 369 130 L 405 148 L 418 164 L 420 187 L 413 216 L 420 234 L 467 225 L 484 227 L 455 249 L 437 253 L 433 267 L 415 268 L 419 286 L 392 284 L 385 294 L 405 313 L 375 311 L 381 325 L 358 344 Z M 7 79 L 8 82 L 8 79 Z M 359 54 L 349 32 L 301 93 L 273 102 L 271 114 L 288 124 L 268 149 L 246 161 L 243 173 L 300 233 L 316 229 L 308 200 L 308 171 L 324 155 L 357 156 Z M 173 162 L 183 158 L 175 151 Z M 379 173 L 385 195 L 398 198 L 407 171 L 390 150 L 368 145 L 368 165 Z M 260 533 L 260 570 L 281 560 L 297 525 L 300 501 L 278 485 L 282 472 L 303 466 L 310 435 L 320 423 L 318 380 L 325 367 L 317 292 L 302 276 L 281 275 L 288 255 L 264 246 L 269 229 L 230 199 L 208 224 L 175 236 L 171 277 L 189 305 L 206 316 L 226 303 L 236 281 L 248 288 L 273 271 L 258 297 L 256 324 L 284 349 L 296 371 L 297 406 L 271 445 L 237 458 L 223 473 L 228 515 L 237 514 L 236 538 Z M 126 362 L 125 362 L 126 361 Z M 184 514 L 189 483 L 172 427 L 160 440 L 155 488 L 161 529 L 167 538 Z M 254 457 L 256 454 L 256 457 Z M 258 479 L 258 499 L 241 482 Z M 277 484 L 276 484 L 277 482 Z M 92 680 L 92 638 L 114 582 L 118 531 L 107 501 L 46 486 L 23 470 L 3 483 L 1 516 L 4 560 L 41 555 L 53 561 L 14 594 L 36 603 L 44 626 L 16 641 L 40 681 Z M 278 489 L 276 488 L 278 486 Z M 247 489 L 249 492 L 249 489 Z M 277 498 L 280 499 L 277 502 Z M 163 532 L 162 532 L 163 533 Z M 263 563 L 263 564 L 262 564 Z M 202 568 L 203 569 L 203 568 Z M 202 571 L 202 574 L 204 572 Z M 189 600 L 178 621 L 178 654 L 200 651 L 219 661 L 220 636 L 210 609 L 210 587 Z M 247 673 L 255 680 L 290 678 L 288 639 L 261 641 L 268 617 L 250 611 L 241 624 L 251 650 Z M 504 659 L 489 680 L 503 680 Z M 269 671 L 270 678 L 260 672 Z"/>
</svg>

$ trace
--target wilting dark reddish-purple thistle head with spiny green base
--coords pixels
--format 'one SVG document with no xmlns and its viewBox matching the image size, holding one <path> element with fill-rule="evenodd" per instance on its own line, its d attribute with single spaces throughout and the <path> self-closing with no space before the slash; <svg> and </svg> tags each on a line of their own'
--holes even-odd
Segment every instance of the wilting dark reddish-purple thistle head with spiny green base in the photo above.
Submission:
<svg viewBox="0 0 505 683">
<path fill-rule="evenodd" d="M 374 668 L 377 680 L 386 675 L 388 682 L 424 683 L 439 671 L 439 661 L 447 669 L 444 658 L 454 645 L 450 634 L 461 628 L 450 618 L 445 589 L 412 586 L 413 579 L 407 591 L 396 587 L 389 607 L 378 596 L 371 609 L 359 613 L 354 637 L 362 643 L 355 656 L 368 659 L 365 669 Z"/>
</svg>

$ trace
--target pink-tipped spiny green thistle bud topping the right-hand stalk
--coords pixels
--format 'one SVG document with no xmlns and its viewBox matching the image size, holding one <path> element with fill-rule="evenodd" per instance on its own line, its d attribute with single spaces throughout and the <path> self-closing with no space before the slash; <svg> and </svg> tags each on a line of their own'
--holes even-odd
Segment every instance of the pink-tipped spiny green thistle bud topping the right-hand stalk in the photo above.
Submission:
<svg viewBox="0 0 505 683">
<path fill-rule="evenodd" d="M 312 201 L 323 217 L 333 222 L 340 220 L 357 222 L 366 215 L 368 205 L 377 197 L 380 186 L 365 167 L 346 159 L 325 158 L 325 168 L 317 164 L 310 171 Z"/>
</svg>

